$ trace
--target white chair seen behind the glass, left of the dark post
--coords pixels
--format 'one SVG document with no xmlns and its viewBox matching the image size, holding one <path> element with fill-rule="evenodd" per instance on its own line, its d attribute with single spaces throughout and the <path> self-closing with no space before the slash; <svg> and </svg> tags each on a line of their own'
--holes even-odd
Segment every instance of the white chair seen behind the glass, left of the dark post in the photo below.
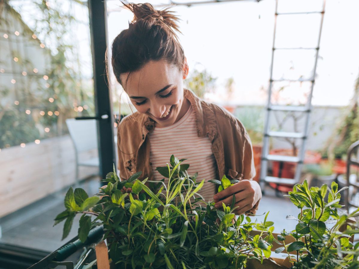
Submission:
<svg viewBox="0 0 359 269">
<path fill-rule="evenodd" d="M 76 156 L 76 181 L 79 180 L 79 166 L 97 166 L 99 167 L 99 157 L 88 160 L 81 160 L 81 152 L 98 148 L 97 143 L 97 123 L 95 119 L 76 120 L 66 119 L 66 125 L 69 129 L 71 140 L 75 147 Z"/>
</svg>

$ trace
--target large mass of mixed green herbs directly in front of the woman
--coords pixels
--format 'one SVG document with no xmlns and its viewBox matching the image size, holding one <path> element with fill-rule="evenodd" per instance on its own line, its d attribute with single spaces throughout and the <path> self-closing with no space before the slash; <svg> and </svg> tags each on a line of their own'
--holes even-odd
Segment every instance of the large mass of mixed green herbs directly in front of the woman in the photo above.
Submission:
<svg viewBox="0 0 359 269">
<path fill-rule="evenodd" d="M 81 241 L 90 228 L 103 225 L 109 256 L 117 268 L 245 268 L 248 259 L 269 257 L 276 239 L 273 222 L 266 220 L 268 213 L 261 223 L 243 215 L 236 220 L 234 199 L 232 206 L 223 204 L 222 210 L 203 202 L 198 191 L 204 180 L 198 183 L 197 174 L 188 175 L 189 165 L 183 161 L 172 155 L 167 166 L 157 167 L 168 178 L 167 185 L 140 181 L 141 173 L 120 181 L 114 170 L 102 180 L 107 187 L 95 197 L 70 188 L 66 210 L 55 218 L 55 225 L 65 220 L 65 238 L 74 216 L 83 214 Z M 234 183 L 225 176 L 217 181 L 222 188 Z M 123 187 L 132 192 L 124 193 Z M 260 234 L 251 236 L 254 228 Z"/>
</svg>

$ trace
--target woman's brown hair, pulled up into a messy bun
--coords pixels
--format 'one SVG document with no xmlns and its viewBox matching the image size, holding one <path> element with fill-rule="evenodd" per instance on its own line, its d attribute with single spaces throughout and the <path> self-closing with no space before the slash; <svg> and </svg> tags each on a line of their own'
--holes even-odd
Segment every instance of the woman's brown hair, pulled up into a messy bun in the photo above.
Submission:
<svg viewBox="0 0 359 269">
<path fill-rule="evenodd" d="M 182 70 L 185 55 L 175 33 L 181 33 L 180 19 L 173 11 L 155 10 L 149 3 L 123 5 L 134 18 L 112 42 L 111 63 L 117 81 L 123 86 L 121 74 L 140 70 L 149 61 L 165 60 Z"/>
</svg>

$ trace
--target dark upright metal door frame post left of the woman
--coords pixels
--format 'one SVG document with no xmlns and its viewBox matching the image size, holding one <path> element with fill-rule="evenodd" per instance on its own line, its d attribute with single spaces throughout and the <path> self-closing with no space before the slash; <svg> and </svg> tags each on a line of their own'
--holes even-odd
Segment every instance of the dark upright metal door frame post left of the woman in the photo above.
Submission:
<svg viewBox="0 0 359 269">
<path fill-rule="evenodd" d="M 107 18 L 106 1 L 88 0 L 91 49 L 93 62 L 93 81 L 95 90 L 95 109 L 98 118 L 98 145 L 100 159 L 100 175 L 106 178 L 111 172 L 116 158 L 113 143 L 113 114 L 111 91 L 106 75 Z"/>
</svg>

